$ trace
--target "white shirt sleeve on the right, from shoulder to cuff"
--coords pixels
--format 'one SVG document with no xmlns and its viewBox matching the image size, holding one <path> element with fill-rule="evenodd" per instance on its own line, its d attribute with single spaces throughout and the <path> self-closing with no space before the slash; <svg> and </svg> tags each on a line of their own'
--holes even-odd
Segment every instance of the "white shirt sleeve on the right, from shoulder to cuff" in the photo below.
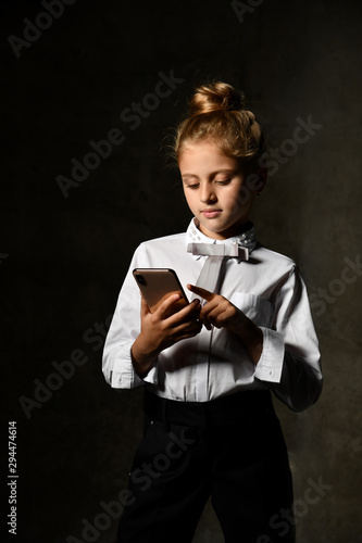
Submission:
<svg viewBox="0 0 362 543">
<path fill-rule="evenodd" d="M 262 330 L 255 377 L 290 409 L 307 409 L 320 397 L 323 378 L 307 289 L 296 267 L 278 290 L 273 325 Z"/>
</svg>

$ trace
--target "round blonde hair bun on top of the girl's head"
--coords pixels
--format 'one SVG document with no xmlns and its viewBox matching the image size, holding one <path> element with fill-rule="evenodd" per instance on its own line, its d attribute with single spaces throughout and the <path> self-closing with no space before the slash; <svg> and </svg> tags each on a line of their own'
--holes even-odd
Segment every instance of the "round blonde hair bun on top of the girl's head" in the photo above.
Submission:
<svg viewBox="0 0 362 543">
<path fill-rule="evenodd" d="M 216 111 L 241 111 L 244 110 L 244 97 L 234 87 L 226 83 L 214 83 L 202 85 L 189 103 L 191 115 L 202 115 Z"/>
</svg>

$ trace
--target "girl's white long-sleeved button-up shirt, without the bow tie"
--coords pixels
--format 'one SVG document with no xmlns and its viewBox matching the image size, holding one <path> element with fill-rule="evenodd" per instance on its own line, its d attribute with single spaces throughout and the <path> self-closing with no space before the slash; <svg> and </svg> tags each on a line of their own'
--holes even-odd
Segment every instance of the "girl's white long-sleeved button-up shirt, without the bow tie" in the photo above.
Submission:
<svg viewBox="0 0 362 543">
<path fill-rule="evenodd" d="M 103 374 L 115 389 L 147 383 L 162 397 L 207 402 L 240 390 L 272 389 L 292 411 L 312 405 L 322 391 L 317 339 L 304 283 L 288 257 L 257 244 L 249 261 L 229 257 L 220 294 L 239 307 L 263 333 L 255 365 L 239 337 L 226 329 L 204 327 L 159 355 L 149 374 L 135 372 L 130 348 L 140 331 L 140 294 L 132 275 L 136 267 L 173 268 L 184 287 L 195 285 L 205 256 L 186 251 L 195 241 L 194 219 L 185 233 L 141 243 L 121 289 L 103 352 Z M 212 240 L 199 230 L 198 241 Z"/>
</svg>

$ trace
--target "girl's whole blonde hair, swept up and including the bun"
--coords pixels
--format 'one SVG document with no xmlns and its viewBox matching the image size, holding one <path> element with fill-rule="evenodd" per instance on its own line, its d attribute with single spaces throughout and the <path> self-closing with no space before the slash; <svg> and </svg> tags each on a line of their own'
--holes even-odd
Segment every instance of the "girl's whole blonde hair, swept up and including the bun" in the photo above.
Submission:
<svg viewBox="0 0 362 543">
<path fill-rule="evenodd" d="M 173 143 L 178 162 L 183 150 L 211 139 L 227 156 L 240 159 L 251 167 L 265 152 L 265 139 L 255 116 L 245 109 L 244 96 L 226 83 L 197 87 L 187 117 L 179 124 Z"/>
</svg>

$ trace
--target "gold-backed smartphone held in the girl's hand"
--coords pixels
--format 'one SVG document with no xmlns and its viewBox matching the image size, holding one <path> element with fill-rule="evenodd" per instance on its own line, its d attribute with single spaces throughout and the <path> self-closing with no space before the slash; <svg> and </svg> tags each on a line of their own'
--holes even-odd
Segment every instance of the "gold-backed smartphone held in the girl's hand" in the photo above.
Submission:
<svg viewBox="0 0 362 543">
<path fill-rule="evenodd" d="M 177 313 L 189 303 L 174 269 L 136 268 L 133 275 L 151 313 L 154 313 L 172 294 L 179 294 L 180 299 L 172 305 L 167 316 Z"/>
</svg>

